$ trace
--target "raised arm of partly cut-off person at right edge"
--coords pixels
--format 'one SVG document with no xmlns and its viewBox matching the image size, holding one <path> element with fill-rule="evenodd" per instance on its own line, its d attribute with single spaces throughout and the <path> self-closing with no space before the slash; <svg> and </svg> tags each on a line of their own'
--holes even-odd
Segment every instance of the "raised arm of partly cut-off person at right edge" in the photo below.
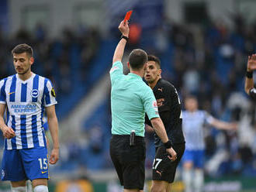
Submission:
<svg viewBox="0 0 256 192">
<path fill-rule="evenodd" d="M 256 54 L 248 56 L 247 72 L 244 84 L 244 91 L 249 94 L 251 98 L 256 99 L 256 88 L 254 87 L 253 70 L 256 70 Z"/>
</svg>

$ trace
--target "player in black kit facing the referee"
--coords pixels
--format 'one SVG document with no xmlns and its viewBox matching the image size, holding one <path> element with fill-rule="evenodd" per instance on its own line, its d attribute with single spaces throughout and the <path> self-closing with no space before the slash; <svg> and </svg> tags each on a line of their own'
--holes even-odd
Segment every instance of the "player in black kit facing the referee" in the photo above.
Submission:
<svg viewBox="0 0 256 192">
<path fill-rule="evenodd" d="M 175 179 L 175 172 L 185 150 L 185 139 L 182 132 L 181 102 L 175 87 L 168 81 L 161 79 L 161 62 L 153 56 L 148 56 L 147 72 L 144 76 L 147 84 L 153 89 L 157 99 L 159 115 L 164 122 L 168 138 L 177 153 L 177 159 L 171 161 L 161 139 L 154 134 L 156 155 L 153 163 L 153 182 L 151 192 L 167 192 L 171 190 L 171 183 Z M 146 124 L 150 125 L 149 119 L 145 118 Z"/>
</svg>

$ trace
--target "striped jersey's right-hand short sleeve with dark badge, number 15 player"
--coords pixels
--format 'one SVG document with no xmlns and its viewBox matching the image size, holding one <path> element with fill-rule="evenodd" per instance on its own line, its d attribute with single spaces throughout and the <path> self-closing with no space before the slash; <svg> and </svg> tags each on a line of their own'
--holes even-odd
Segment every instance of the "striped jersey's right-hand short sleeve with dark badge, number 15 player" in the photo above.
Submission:
<svg viewBox="0 0 256 192">
<path fill-rule="evenodd" d="M 51 105 L 56 105 L 57 101 L 56 101 L 56 94 L 54 91 L 54 87 L 51 84 L 50 80 L 47 80 L 46 83 L 44 84 L 44 106 L 45 107 L 49 107 Z"/>
</svg>

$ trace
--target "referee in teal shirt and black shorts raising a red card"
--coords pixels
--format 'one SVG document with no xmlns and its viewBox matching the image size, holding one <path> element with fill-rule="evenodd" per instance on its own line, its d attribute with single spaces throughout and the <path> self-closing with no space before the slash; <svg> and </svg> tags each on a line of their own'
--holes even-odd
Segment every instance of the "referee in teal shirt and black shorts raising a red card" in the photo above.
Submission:
<svg viewBox="0 0 256 192">
<path fill-rule="evenodd" d="M 128 22 L 120 22 L 119 30 L 122 37 L 116 46 L 109 71 L 112 85 L 110 156 L 124 192 L 138 192 L 144 189 L 145 180 L 145 112 L 171 160 L 176 159 L 176 153 L 171 148 L 171 141 L 159 118 L 153 91 L 142 80 L 147 66 L 147 53 L 133 50 L 128 62 L 130 74 L 124 75 L 121 60 L 129 36 Z"/>
</svg>

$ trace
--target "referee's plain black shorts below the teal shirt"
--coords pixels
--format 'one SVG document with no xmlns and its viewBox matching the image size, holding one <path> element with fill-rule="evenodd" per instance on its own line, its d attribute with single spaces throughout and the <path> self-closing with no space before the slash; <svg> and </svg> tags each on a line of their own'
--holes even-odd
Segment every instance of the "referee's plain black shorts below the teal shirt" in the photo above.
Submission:
<svg viewBox="0 0 256 192">
<path fill-rule="evenodd" d="M 146 147 L 144 137 L 135 136 L 130 146 L 130 135 L 112 135 L 110 156 L 121 185 L 125 189 L 144 189 Z"/>
</svg>

